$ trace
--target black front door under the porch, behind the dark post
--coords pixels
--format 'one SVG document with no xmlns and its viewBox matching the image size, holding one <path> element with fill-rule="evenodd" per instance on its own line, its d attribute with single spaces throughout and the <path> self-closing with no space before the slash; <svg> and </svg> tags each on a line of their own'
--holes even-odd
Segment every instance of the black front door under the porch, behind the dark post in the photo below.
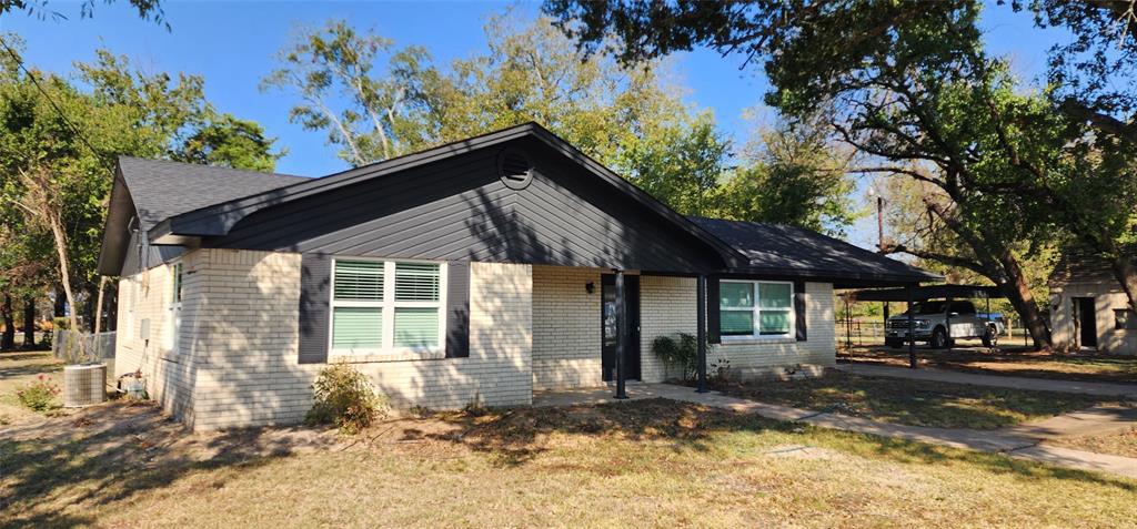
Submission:
<svg viewBox="0 0 1137 529">
<path fill-rule="evenodd" d="M 600 282 L 600 367 L 604 381 L 616 379 L 616 276 Z M 624 379 L 639 380 L 639 276 L 624 275 L 628 339 L 624 342 Z"/>
</svg>

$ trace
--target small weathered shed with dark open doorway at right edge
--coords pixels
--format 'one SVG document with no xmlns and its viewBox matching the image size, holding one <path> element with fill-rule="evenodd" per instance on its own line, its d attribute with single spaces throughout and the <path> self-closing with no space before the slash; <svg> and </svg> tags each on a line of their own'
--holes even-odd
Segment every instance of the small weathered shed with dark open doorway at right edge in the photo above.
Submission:
<svg viewBox="0 0 1137 529">
<path fill-rule="evenodd" d="M 1106 260 L 1082 251 L 1065 252 L 1051 274 L 1049 287 L 1056 347 L 1137 354 L 1137 317 Z"/>
</svg>

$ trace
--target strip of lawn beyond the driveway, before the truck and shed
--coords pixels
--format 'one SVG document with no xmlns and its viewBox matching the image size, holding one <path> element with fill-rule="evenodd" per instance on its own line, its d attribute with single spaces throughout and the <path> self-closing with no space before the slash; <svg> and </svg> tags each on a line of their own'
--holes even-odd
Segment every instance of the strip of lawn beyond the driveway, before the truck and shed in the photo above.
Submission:
<svg viewBox="0 0 1137 529">
<path fill-rule="evenodd" d="M 953 351 L 921 349 L 918 355 L 920 363 L 926 367 L 981 375 L 1137 384 L 1137 356 L 1052 354 L 1030 351 L 991 354 L 977 349 Z M 908 353 L 906 350 L 860 347 L 852 352 L 841 352 L 838 360 L 907 367 Z"/>
</svg>

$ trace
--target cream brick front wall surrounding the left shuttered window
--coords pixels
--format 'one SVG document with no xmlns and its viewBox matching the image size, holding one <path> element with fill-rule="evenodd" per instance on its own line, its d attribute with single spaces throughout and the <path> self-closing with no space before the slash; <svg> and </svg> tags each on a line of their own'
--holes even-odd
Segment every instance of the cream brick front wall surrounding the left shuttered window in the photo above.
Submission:
<svg viewBox="0 0 1137 529">
<path fill-rule="evenodd" d="M 214 429 L 302 420 L 324 364 L 298 362 L 299 282 L 296 253 L 199 250 L 186 259 L 183 335 L 192 343 L 181 363 L 192 380 L 192 402 L 183 406 L 190 412 L 182 413 L 186 422 Z M 470 358 L 355 367 L 397 406 L 528 404 L 531 299 L 529 266 L 472 263 Z M 160 373 L 153 377 L 151 383 L 163 384 Z"/>
</svg>

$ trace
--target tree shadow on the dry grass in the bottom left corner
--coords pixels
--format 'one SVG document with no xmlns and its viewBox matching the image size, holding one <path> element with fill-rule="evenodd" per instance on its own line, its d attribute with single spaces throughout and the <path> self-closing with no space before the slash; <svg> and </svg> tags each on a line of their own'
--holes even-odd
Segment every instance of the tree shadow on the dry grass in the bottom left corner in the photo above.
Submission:
<svg viewBox="0 0 1137 529">
<path fill-rule="evenodd" d="M 156 406 L 124 403 L 83 410 L 50 426 L 7 429 L 0 436 L 6 484 L 0 528 L 92 523 L 64 507 L 116 502 L 194 472 L 259 467 L 291 454 L 291 443 L 266 438 L 266 431 L 231 430 L 192 440 Z"/>
</svg>

